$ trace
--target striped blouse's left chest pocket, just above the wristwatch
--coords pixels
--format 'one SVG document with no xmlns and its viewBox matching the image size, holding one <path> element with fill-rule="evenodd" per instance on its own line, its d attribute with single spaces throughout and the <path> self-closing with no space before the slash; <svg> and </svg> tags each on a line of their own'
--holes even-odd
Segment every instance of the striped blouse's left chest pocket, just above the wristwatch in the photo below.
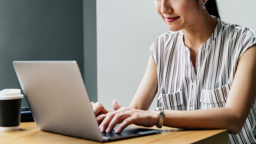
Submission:
<svg viewBox="0 0 256 144">
<path fill-rule="evenodd" d="M 163 94 L 161 92 L 161 103 L 164 109 L 184 110 L 183 92 Z"/>
</svg>

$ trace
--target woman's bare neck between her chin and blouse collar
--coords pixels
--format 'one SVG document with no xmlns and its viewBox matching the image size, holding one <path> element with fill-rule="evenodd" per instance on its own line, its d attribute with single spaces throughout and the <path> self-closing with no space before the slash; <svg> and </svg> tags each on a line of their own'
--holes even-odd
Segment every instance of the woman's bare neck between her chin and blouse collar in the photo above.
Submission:
<svg viewBox="0 0 256 144">
<path fill-rule="evenodd" d="M 202 14 L 191 25 L 182 30 L 184 44 L 189 49 L 198 51 L 214 32 L 217 20 L 209 14 Z"/>
</svg>

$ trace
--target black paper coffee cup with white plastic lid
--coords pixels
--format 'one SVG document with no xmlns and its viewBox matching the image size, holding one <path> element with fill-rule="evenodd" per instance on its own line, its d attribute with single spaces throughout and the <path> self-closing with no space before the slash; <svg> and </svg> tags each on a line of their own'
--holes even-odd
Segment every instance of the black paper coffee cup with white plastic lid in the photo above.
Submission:
<svg viewBox="0 0 256 144">
<path fill-rule="evenodd" d="M 18 130 L 20 128 L 22 98 L 20 89 L 0 91 L 0 130 Z"/>
</svg>

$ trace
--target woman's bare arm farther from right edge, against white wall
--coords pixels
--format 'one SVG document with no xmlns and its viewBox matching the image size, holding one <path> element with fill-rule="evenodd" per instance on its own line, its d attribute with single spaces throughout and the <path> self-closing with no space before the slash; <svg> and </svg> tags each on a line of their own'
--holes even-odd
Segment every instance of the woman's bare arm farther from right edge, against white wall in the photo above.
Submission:
<svg viewBox="0 0 256 144">
<path fill-rule="evenodd" d="M 148 65 L 144 77 L 133 97 L 129 107 L 148 110 L 152 101 L 154 100 L 155 94 L 158 87 L 157 67 L 150 56 L 148 59 Z"/>
</svg>

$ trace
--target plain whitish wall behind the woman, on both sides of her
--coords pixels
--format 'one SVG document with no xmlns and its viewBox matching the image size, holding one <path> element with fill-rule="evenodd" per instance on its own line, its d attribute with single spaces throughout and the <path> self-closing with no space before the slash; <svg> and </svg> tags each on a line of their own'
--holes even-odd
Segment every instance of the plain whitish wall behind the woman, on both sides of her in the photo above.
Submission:
<svg viewBox="0 0 256 144">
<path fill-rule="evenodd" d="M 255 0 L 218 2 L 224 21 L 256 30 Z M 146 69 L 149 45 L 169 30 L 154 0 L 97 0 L 96 5 L 98 101 L 108 109 L 113 99 L 129 106 Z"/>
</svg>

